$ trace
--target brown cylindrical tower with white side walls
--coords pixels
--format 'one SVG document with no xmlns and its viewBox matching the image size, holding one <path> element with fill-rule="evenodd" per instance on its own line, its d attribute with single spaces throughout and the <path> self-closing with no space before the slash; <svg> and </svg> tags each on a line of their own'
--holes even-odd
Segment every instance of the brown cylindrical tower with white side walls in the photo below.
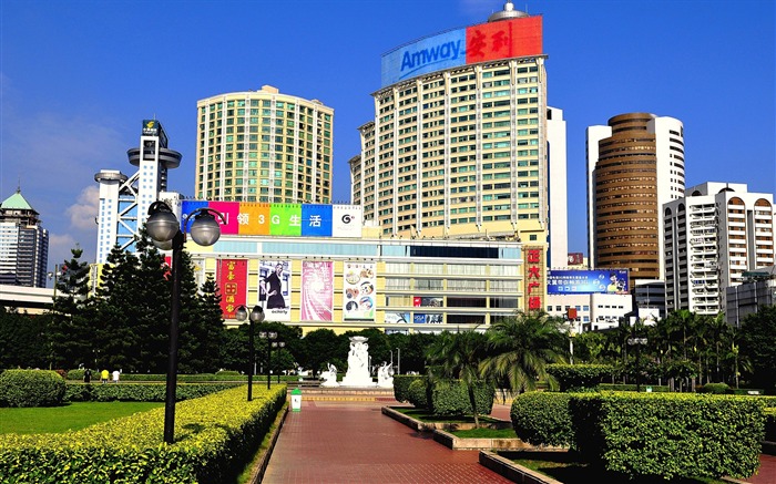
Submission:
<svg viewBox="0 0 776 484">
<path fill-rule="evenodd" d="M 684 195 L 684 126 L 629 113 L 588 127 L 588 250 L 592 268 L 664 280 L 662 206 Z"/>
</svg>

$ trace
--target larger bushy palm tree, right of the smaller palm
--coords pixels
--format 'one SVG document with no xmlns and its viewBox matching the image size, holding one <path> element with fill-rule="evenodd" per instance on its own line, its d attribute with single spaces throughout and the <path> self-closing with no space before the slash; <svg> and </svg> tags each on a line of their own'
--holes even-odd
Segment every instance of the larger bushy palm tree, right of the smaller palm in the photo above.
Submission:
<svg viewBox="0 0 776 484">
<path fill-rule="evenodd" d="M 543 312 L 515 312 L 488 329 L 489 357 L 481 374 L 506 381 L 512 392 L 535 390 L 538 380 L 550 381 L 548 363 L 561 363 L 566 352 L 563 320 Z"/>
</svg>

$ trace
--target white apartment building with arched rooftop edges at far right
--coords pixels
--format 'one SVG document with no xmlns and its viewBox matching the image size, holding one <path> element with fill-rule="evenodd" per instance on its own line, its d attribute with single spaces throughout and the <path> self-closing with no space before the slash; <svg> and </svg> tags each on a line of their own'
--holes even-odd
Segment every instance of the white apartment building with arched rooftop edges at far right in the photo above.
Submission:
<svg viewBox="0 0 776 484">
<path fill-rule="evenodd" d="M 704 183 L 663 206 L 668 310 L 726 312 L 725 290 L 773 266 L 774 195 L 745 184 Z"/>
</svg>

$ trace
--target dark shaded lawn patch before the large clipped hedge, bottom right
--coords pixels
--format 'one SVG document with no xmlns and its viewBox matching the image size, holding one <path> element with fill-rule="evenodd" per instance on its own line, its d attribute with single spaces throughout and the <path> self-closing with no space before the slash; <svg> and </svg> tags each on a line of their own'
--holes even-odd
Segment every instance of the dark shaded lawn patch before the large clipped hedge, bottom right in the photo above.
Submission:
<svg viewBox="0 0 776 484">
<path fill-rule="evenodd" d="M 654 484 L 655 477 L 629 480 L 627 477 L 604 473 L 578 462 L 566 452 L 515 452 L 504 455 L 515 464 L 540 472 L 563 484 Z M 674 478 L 658 481 L 662 484 L 726 484 L 713 478 Z"/>
</svg>

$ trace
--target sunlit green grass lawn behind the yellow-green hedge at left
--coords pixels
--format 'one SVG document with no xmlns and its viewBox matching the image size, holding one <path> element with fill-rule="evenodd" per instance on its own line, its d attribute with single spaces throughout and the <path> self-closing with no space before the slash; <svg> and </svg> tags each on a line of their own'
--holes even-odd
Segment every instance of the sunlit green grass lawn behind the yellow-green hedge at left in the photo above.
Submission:
<svg viewBox="0 0 776 484">
<path fill-rule="evenodd" d="M 164 403 L 73 402 L 62 406 L 2 408 L 0 433 L 61 433 L 160 406 Z"/>
</svg>

